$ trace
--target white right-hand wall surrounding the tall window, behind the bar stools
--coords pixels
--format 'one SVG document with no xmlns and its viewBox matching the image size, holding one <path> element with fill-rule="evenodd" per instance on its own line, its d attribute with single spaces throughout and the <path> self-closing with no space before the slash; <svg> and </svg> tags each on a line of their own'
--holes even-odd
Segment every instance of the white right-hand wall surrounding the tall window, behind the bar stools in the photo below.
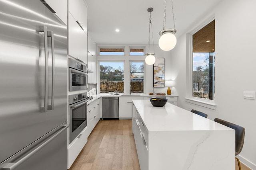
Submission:
<svg viewBox="0 0 256 170">
<path fill-rule="evenodd" d="M 175 78 L 179 106 L 197 109 L 245 127 L 245 141 L 239 154 L 241 162 L 256 169 L 256 100 L 243 98 L 243 91 L 256 91 L 256 1 L 223 0 L 191 26 L 196 29 L 211 15 L 215 16 L 215 102 L 216 110 L 185 102 L 189 57 L 186 34 L 178 37 L 171 51 L 171 75 Z M 168 64 L 168 63 L 166 63 Z M 210 147 L 210 146 L 209 146 Z"/>
</svg>

